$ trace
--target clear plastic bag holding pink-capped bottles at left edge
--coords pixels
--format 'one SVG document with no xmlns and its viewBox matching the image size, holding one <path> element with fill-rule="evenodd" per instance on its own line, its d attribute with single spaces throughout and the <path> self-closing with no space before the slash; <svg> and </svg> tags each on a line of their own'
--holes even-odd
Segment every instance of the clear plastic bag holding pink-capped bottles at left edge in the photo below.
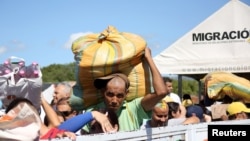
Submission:
<svg viewBox="0 0 250 141">
<path fill-rule="evenodd" d="M 10 57 L 3 65 L 5 68 L 0 69 L 9 70 L 0 75 L 0 98 L 3 108 L 7 107 L 14 98 L 24 97 L 32 101 L 39 111 L 42 92 L 42 73 L 39 65 L 32 63 L 26 66 L 23 58 L 15 56 Z"/>
</svg>

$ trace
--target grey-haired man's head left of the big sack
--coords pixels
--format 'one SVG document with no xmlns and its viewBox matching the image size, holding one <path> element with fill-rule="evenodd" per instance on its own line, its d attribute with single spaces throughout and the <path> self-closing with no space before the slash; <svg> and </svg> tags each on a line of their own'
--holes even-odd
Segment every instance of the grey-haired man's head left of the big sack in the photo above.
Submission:
<svg viewBox="0 0 250 141">
<path fill-rule="evenodd" d="M 68 98 L 72 93 L 72 87 L 67 82 L 61 82 L 55 85 L 53 94 L 53 103 L 56 104 L 61 98 Z"/>
</svg>

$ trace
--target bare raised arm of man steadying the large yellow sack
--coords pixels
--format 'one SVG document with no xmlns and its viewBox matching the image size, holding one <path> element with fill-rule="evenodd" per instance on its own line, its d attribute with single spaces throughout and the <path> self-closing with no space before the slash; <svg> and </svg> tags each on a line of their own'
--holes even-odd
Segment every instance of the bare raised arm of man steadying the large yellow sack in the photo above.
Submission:
<svg viewBox="0 0 250 141">
<path fill-rule="evenodd" d="M 145 111 L 152 110 L 156 103 L 158 103 L 167 94 L 163 78 L 156 67 L 149 48 L 145 49 L 145 60 L 147 61 L 152 74 L 152 81 L 154 93 L 146 94 L 141 101 L 142 107 Z"/>
</svg>

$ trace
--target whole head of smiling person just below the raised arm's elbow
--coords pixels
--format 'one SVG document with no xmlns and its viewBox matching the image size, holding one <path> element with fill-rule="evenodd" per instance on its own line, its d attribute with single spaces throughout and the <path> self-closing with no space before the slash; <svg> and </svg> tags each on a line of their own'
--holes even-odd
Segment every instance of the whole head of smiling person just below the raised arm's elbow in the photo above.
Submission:
<svg viewBox="0 0 250 141">
<path fill-rule="evenodd" d="M 168 121 L 168 105 L 165 101 L 157 103 L 152 112 L 151 127 L 166 126 Z"/>
</svg>

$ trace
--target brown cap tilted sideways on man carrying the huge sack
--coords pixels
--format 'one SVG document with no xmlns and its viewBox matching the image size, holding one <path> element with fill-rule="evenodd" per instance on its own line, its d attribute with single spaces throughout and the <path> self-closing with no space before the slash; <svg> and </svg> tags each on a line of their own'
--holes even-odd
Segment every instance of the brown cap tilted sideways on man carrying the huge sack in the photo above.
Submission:
<svg viewBox="0 0 250 141">
<path fill-rule="evenodd" d="M 129 79 L 128 77 L 123 74 L 123 73 L 113 73 L 113 74 L 110 74 L 110 75 L 107 75 L 107 76 L 103 76 L 103 77 L 99 77 L 97 79 L 95 79 L 94 81 L 94 86 L 97 88 L 97 89 L 101 89 L 103 87 L 106 86 L 107 82 L 115 77 L 120 77 L 122 80 L 124 80 L 125 82 L 125 85 L 126 85 L 126 89 L 129 88 L 130 86 L 130 82 L 129 82 Z"/>
</svg>

